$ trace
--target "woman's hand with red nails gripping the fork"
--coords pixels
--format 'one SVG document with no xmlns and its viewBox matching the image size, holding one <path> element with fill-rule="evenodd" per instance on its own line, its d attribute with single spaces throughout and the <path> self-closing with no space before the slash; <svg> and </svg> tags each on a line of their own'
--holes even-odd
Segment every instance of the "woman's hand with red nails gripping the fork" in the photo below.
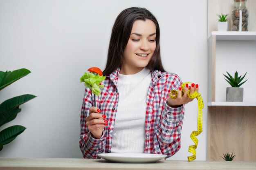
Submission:
<svg viewBox="0 0 256 170">
<path fill-rule="evenodd" d="M 92 106 L 90 107 L 89 116 L 85 118 L 86 126 L 95 139 L 101 138 L 104 127 L 108 125 L 108 121 L 104 120 L 106 116 L 100 112 L 99 108 Z"/>
</svg>

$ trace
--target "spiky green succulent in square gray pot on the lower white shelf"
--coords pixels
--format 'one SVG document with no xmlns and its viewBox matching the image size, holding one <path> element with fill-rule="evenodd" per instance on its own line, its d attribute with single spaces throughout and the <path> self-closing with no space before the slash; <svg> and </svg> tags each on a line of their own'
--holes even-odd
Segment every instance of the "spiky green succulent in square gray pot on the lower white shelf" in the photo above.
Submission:
<svg viewBox="0 0 256 170">
<path fill-rule="evenodd" d="M 240 88 L 240 86 L 244 84 L 248 79 L 242 82 L 242 80 L 245 78 L 245 75 L 243 77 L 238 77 L 237 71 L 235 72 L 234 77 L 232 77 L 228 72 L 227 74 L 228 76 L 224 74 L 223 75 L 227 78 L 225 80 L 231 85 L 231 87 L 227 87 L 226 102 L 243 102 L 244 89 Z"/>
</svg>

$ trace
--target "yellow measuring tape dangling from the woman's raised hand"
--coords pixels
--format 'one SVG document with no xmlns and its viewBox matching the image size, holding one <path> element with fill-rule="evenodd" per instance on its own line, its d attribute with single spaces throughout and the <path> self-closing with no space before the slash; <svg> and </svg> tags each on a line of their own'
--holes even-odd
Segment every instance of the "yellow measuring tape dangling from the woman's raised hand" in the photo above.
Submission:
<svg viewBox="0 0 256 170">
<path fill-rule="evenodd" d="M 191 82 L 182 83 L 182 85 L 181 85 L 182 96 L 184 95 L 184 87 L 186 86 L 186 84 L 191 84 Z M 177 97 L 177 93 L 178 92 L 176 90 L 171 90 L 170 97 L 172 99 L 175 99 Z M 196 155 L 195 149 L 198 146 L 198 139 L 196 138 L 196 136 L 198 136 L 203 130 L 203 128 L 202 128 L 202 108 L 204 108 L 204 102 L 203 102 L 203 99 L 202 99 L 200 93 L 198 93 L 196 91 L 194 93 L 192 93 L 191 95 L 189 93 L 190 93 L 190 90 L 187 93 L 187 95 L 190 99 L 193 99 L 193 98 L 198 99 L 198 131 L 193 131 L 190 135 L 190 137 L 191 137 L 192 141 L 195 143 L 195 145 L 189 146 L 189 152 L 192 153 L 193 155 L 188 157 L 189 161 L 193 161 L 195 159 L 195 155 Z"/>
</svg>

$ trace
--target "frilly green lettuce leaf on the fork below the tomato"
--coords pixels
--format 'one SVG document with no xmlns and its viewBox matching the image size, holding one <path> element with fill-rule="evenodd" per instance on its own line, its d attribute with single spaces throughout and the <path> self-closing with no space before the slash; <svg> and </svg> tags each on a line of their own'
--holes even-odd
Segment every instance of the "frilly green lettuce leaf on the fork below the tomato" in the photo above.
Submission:
<svg viewBox="0 0 256 170">
<path fill-rule="evenodd" d="M 92 89 L 92 93 L 95 95 L 99 95 L 101 93 L 101 89 L 104 85 L 100 84 L 105 76 L 94 75 L 93 73 L 85 72 L 84 75 L 80 78 L 80 82 L 84 82 L 84 85 L 90 89 Z"/>
</svg>

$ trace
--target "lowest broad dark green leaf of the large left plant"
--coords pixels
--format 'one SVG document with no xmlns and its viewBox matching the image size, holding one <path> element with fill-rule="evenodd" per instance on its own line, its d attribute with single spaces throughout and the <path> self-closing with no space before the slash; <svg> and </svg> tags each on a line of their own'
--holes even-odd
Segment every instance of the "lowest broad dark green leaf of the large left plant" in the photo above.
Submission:
<svg viewBox="0 0 256 170">
<path fill-rule="evenodd" d="M 18 135 L 20 135 L 26 128 L 24 126 L 15 125 L 6 128 L 0 132 L 0 142 L 5 145 L 13 141 Z"/>
</svg>

